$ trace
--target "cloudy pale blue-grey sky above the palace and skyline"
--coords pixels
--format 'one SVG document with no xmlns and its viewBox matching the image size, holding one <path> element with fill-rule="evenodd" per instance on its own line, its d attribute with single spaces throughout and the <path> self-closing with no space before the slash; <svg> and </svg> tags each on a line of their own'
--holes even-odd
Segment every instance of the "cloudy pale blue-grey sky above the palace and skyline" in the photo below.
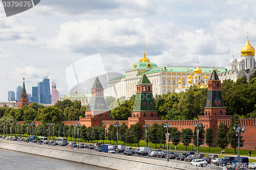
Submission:
<svg viewBox="0 0 256 170">
<path fill-rule="evenodd" d="M 255 8 L 238 0 L 41 0 L 7 17 L 0 3 L 0 101 L 23 78 L 28 93 L 48 77 L 62 96 L 78 79 L 124 74 L 143 57 L 144 42 L 146 57 L 158 66 L 228 68 L 232 51 L 240 57 L 246 32 L 256 47 Z"/>
</svg>

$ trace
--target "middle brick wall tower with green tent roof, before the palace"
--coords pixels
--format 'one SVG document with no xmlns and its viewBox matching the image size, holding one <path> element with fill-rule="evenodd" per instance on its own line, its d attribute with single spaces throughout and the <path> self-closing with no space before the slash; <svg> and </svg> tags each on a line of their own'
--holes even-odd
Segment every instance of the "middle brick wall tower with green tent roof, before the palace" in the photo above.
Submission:
<svg viewBox="0 0 256 170">
<path fill-rule="evenodd" d="M 136 96 L 132 117 L 158 118 L 157 109 L 152 93 L 152 84 L 145 74 L 142 75 L 136 85 Z"/>
</svg>

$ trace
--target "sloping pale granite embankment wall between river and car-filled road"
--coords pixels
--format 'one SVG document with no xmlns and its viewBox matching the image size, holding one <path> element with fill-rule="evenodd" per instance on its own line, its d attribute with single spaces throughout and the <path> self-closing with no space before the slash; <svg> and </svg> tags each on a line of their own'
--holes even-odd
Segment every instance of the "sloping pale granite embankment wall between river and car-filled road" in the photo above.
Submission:
<svg viewBox="0 0 256 170">
<path fill-rule="evenodd" d="M 65 147 L 52 147 L 20 141 L 0 139 L 0 148 L 35 154 L 74 162 L 86 163 L 112 169 L 193 169 L 203 170 L 210 168 L 195 167 L 183 163 L 167 162 L 166 160 L 150 159 L 146 157 L 124 156 L 121 154 L 99 153 L 87 149 L 69 149 Z"/>
</svg>

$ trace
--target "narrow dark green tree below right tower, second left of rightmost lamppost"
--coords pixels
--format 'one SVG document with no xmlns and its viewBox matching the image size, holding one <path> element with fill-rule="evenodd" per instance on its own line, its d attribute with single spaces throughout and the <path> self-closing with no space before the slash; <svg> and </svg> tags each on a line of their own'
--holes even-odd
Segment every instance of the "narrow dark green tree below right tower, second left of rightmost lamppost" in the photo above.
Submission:
<svg viewBox="0 0 256 170">
<path fill-rule="evenodd" d="M 221 123 L 216 132 L 216 144 L 222 149 L 227 148 L 228 145 L 227 132 L 228 126 L 224 123 Z"/>
</svg>

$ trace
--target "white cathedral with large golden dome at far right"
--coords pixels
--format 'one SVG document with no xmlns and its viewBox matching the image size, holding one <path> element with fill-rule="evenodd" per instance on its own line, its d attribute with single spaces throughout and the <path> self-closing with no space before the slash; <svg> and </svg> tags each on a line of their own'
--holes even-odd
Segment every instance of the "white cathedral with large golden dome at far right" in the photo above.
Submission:
<svg viewBox="0 0 256 170">
<path fill-rule="evenodd" d="M 241 78 L 242 76 L 246 76 L 247 81 L 249 81 L 250 76 L 254 71 L 256 71 L 254 54 L 254 47 L 251 46 L 247 35 L 246 44 L 241 49 L 240 58 L 237 60 L 234 58 L 234 56 L 232 56 L 228 64 L 229 70 L 219 74 L 219 79 L 221 82 L 223 82 L 225 79 L 230 79 L 236 82 L 237 79 Z"/>
</svg>

